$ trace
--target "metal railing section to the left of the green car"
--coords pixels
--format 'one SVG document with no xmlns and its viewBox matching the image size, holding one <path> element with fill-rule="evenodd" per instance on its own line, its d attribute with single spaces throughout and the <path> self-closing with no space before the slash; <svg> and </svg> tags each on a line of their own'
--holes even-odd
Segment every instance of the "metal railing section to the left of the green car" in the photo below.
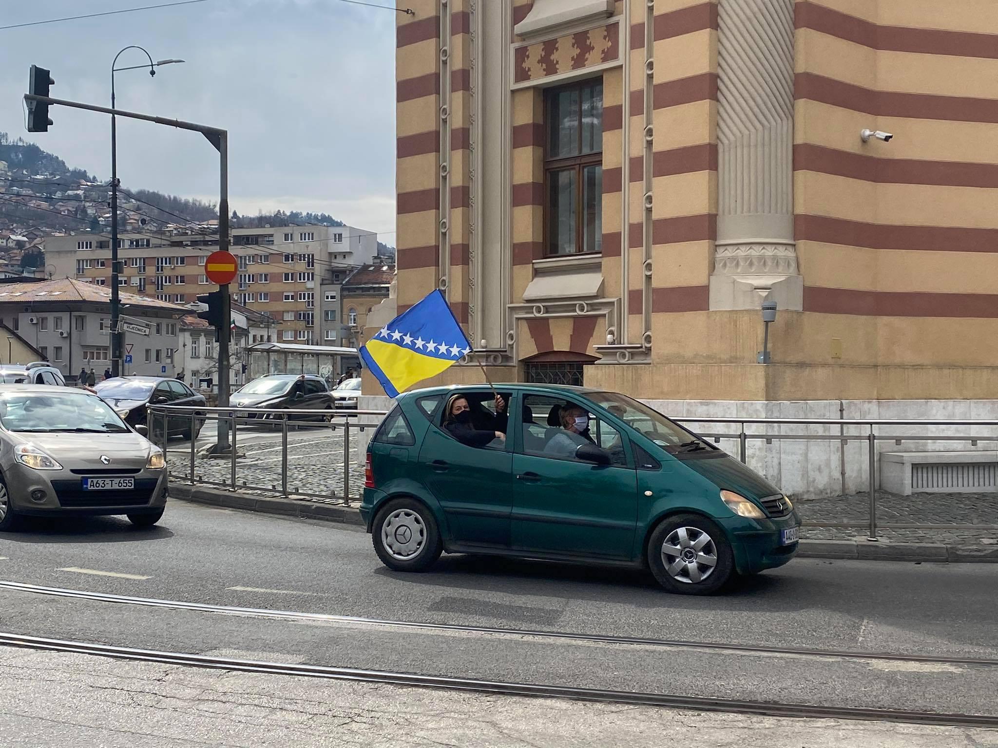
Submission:
<svg viewBox="0 0 998 748">
<path fill-rule="evenodd" d="M 184 475 L 174 474 L 174 478 L 186 480 L 193 485 L 214 486 L 230 489 L 231 491 L 250 490 L 265 494 L 274 494 L 283 497 L 303 497 L 307 499 L 318 499 L 328 503 L 339 503 L 349 505 L 351 502 L 359 502 L 359 497 L 350 496 L 350 466 L 351 466 L 351 432 L 363 432 L 366 429 L 375 429 L 380 424 L 380 419 L 384 417 L 385 411 L 370 410 L 306 410 L 306 409 L 268 409 L 268 408 L 210 408 L 192 406 L 169 406 L 157 405 L 147 408 L 146 428 L 149 432 L 149 439 L 156 443 L 164 454 L 169 458 L 168 442 L 171 433 L 179 430 L 186 431 L 191 436 L 190 452 L 188 457 L 188 469 Z M 359 420 L 360 416 L 376 416 L 377 420 Z M 184 426 L 178 428 L 178 421 L 182 421 Z M 204 424 L 216 421 L 226 423 L 228 426 L 229 444 L 227 449 L 213 456 L 205 456 L 207 459 L 218 463 L 228 460 L 229 476 L 228 480 L 217 480 L 217 478 L 199 475 L 198 472 L 198 445 L 197 434 L 204 427 Z M 240 429 L 238 427 L 263 427 L 279 429 L 280 432 L 280 484 L 261 486 L 238 480 L 239 468 L 239 444 Z M 318 493 L 314 491 L 301 491 L 299 487 L 292 486 L 288 478 L 288 433 L 292 430 L 311 429 L 315 431 L 327 431 L 330 434 L 342 434 L 342 458 L 343 458 L 343 481 L 342 489 L 337 493 Z M 246 436 L 246 432 L 243 432 Z M 208 472 L 208 471 L 203 471 Z"/>
</svg>

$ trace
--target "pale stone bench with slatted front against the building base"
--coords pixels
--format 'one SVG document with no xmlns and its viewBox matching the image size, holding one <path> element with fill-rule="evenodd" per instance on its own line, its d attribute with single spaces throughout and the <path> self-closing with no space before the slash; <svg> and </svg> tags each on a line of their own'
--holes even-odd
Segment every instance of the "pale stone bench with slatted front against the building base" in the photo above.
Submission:
<svg viewBox="0 0 998 748">
<path fill-rule="evenodd" d="M 881 452 L 880 488 L 901 496 L 998 492 L 998 452 Z"/>
</svg>

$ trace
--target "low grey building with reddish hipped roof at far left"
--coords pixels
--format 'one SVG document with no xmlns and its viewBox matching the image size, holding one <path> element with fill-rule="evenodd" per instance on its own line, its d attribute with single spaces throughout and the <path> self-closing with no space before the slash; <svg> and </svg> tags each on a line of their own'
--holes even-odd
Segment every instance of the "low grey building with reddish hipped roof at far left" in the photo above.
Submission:
<svg viewBox="0 0 998 748">
<path fill-rule="evenodd" d="M 173 376 L 184 307 L 133 293 L 121 294 L 127 374 Z M 69 376 L 111 365 L 111 299 L 106 288 L 61 278 L 0 285 L 0 320 Z"/>
</svg>

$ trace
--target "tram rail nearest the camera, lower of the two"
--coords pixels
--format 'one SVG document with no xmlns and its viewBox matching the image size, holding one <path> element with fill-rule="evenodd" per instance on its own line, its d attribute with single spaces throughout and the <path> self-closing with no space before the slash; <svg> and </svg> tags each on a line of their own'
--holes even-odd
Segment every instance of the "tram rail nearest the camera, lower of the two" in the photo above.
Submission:
<svg viewBox="0 0 998 748">
<path fill-rule="evenodd" d="M 953 714 L 905 709 L 875 709 L 849 706 L 820 706 L 785 702 L 748 701 L 668 693 L 622 691 L 601 688 L 476 680 L 446 676 L 418 675 L 387 670 L 368 670 L 323 665 L 291 664 L 229 657 L 217 657 L 157 649 L 139 649 L 83 641 L 0 633 L 0 645 L 26 649 L 71 652 L 115 659 L 156 662 L 241 672 L 268 673 L 309 678 L 384 683 L 443 690 L 571 699 L 615 704 L 655 706 L 693 711 L 725 712 L 770 717 L 843 719 L 872 722 L 904 722 L 947 727 L 998 728 L 998 717 L 982 714 Z"/>
</svg>

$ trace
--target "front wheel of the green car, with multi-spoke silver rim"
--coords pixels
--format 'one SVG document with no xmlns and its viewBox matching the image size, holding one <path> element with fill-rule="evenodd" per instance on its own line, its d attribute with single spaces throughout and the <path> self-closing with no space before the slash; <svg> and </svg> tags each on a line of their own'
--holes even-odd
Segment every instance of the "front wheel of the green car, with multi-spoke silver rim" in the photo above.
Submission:
<svg viewBox="0 0 998 748">
<path fill-rule="evenodd" d="M 735 556 L 717 524 L 700 515 L 676 515 L 652 533 L 648 565 L 670 592 L 712 594 L 731 578 Z"/>
</svg>

